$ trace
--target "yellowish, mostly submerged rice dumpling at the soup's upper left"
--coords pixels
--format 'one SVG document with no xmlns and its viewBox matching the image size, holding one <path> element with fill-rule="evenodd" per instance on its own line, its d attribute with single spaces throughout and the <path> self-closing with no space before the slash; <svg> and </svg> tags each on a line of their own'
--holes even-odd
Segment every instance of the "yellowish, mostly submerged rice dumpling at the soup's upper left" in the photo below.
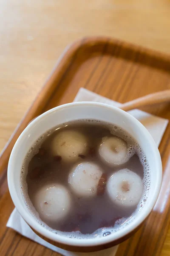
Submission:
<svg viewBox="0 0 170 256">
<path fill-rule="evenodd" d="M 65 161 L 76 161 L 79 154 L 84 155 L 87 150 L 87 139 L 78 131 L 61 131 L 51 143 L 51 151 L 55 156 L 61 156 Z"/>
</svg>

